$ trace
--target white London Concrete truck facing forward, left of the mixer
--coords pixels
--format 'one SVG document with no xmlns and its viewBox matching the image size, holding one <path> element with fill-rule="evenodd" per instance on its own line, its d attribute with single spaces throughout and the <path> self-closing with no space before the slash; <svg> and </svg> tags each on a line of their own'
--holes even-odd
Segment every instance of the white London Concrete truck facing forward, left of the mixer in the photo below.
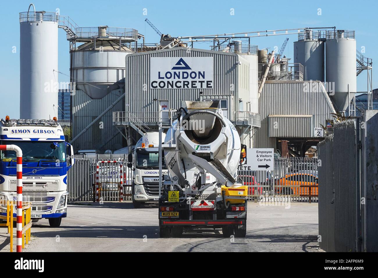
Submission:
<svg viewBox="0 0 378 278">
<path fill-rule="evenodd" d="M 163 140 L 165 134 L 163 134 Z M 133 168 L 132 201 L 134 208 L 145 202 L 159 201 L 159 132 L 147 132 L 129 154 L 128 167 Z M 164 157 L 163 165 L 164 164 Z M 163 168 L 163 175 L 168 170 Z"/>
</svg>

